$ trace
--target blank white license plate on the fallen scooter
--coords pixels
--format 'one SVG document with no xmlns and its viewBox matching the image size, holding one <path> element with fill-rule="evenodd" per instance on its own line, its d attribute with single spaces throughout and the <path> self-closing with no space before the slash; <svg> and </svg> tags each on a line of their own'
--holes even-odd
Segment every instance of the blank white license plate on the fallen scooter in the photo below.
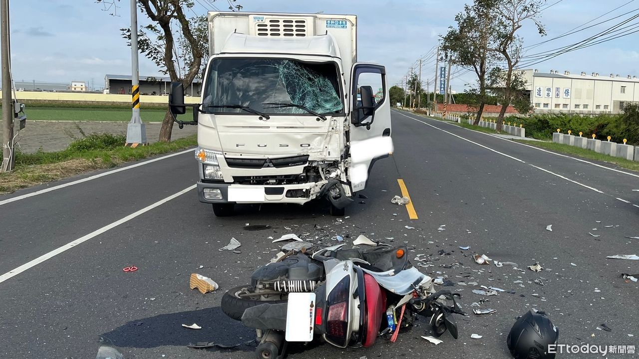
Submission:
<svg viewBox="0 0 639 359">
<path fill-rule="evenodd" d="M 286 341 L 310 342 L 315 323 L 315 293 L 289 293 L 286 309 Z"/>
</svg>

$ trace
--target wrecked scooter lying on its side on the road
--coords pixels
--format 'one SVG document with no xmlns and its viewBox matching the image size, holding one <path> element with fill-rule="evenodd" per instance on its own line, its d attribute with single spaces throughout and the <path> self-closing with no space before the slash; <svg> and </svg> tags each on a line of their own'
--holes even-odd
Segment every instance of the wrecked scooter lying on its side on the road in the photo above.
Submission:
<svg viewBox="0 0 639 359">
<path fill-rule="evenodd" d="M 373 243 L 375 244 L 375 243 Z M 339 348 L 395 341 L 413 315 L 427 317 L 436 336 L 457 339 L 452 314 L 465 313 L 459 294 L 435 291 L 433 279 L 408 261 L 406 247 L 290 250 L 258 268 L 251 284 L 222 297 L 227 316 L 255 328 L 256 357 L 282 358 L 288 342 L 325 340 Z"/>
</svg>

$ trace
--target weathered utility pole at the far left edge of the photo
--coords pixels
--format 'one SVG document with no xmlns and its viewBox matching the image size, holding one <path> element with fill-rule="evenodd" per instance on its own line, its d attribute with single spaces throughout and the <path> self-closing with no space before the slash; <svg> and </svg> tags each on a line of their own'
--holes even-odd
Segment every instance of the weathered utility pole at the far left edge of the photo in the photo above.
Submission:
<svg viewBox="0 0 639 359">
<path fill-rule="evenodd" d="M 11 93 L 10 39 L 9 39 L 9 0 L 0 0 L 0 42 L 2 42 L 2 171 L 13 171 L 15 153 L 13 153 L 13 102 Z"/>
</svg>

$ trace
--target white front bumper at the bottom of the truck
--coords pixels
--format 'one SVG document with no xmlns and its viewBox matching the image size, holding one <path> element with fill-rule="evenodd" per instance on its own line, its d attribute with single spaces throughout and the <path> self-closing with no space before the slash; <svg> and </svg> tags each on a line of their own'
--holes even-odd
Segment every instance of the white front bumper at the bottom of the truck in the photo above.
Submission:
<svg viewBox="0 0 639 359">
<path fill-rule="evenodd" d="M 319 187 L 323 183 L 300 183 L 298 185 L 236 185 L 232 183 L 197 182 L 197 197 L 203 203 L 296 203 L 304 204 L 317 197 Z M 217 188 L 222 194 L 222 199 L 207 199 L 204 197 L 204 188 Z M 264 201 L 229 201 L 229 188 L 263 188 Z M 286 197 L 289 191 L 300 192 L 306 190 L 307 197 Z M 289 195 L 293 194 L 290 192 Z"/>
</svg>

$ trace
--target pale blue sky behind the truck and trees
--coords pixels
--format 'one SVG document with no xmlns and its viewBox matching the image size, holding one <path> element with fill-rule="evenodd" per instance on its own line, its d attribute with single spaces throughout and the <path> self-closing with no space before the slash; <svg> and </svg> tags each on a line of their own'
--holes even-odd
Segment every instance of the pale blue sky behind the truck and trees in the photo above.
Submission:
<svg viewBox="0 0 639 359">
<path fill-rule="evenodd" d="M 548 4 L 556 1 L 548 0 Z M 536 34 L 532 23 L 521 29 L 521 36 L 525 40 L 525 45 L 547 40 L 628 1 L 562 0 L 542 14 L 542 21 L 548 31 L 546 38 Z M 10 0 L 10 3 L 12 68 L 15 80 L 93 80 L 96 88 L 99 88 L 104 86 L 106 73 L 130 74 L 130 48 L 120 37 L 119 31 L 121 27 L 128 26 L 130 21 L 128 0 L 123 0 L 119 4 L 119 16 L 109 15 L 109 11 L 103 11 L 102 4 L 96 4 L 93 0 Z M 465 1 L 238 0 L 237 3 L 242 4 L 242 11 L 324 11 L 358 15 L 358 60 L 387 66 L 389 82 L 395 84 L 416 59 L 427 54 L 436 45 L 438 36 L 454 24 L 454 17 L 462 10 Z M 202 4 L 207 8 L 205 9 Z M 216 0 L 213 5 L 224 10 L 227 3 Z M 639 1 L 631 1 L 591 24 L 636 8 L 639 8 Z M 197 14 L 202 14 L 206 10 L 213 9 L 205 0 L 198 0 L 193 8 Z M 639 13 L 639 10 L 634 13 Z M 530 50 L 530 53 L 577 42 L 630 15 L 633 14 L 548 42 Z M 145 20 L 143 17 L 139 19 L 141 24 L 144 24 Z M 606 75 L 639 75 L 639 49 L 636 49 L 636 43 L 639 43 L 639 33 L 569 52 L 535 65 L 534 68 L 539 68 L 541 72 L 569 70 L 573 73 L 585 71 Z M 157 75 L 157 68 L 153 63 L 142 56 L 140 60 L 141 75 Z M 463 72 L 452 71 L 457 73 L 451 80 L 453 89 L 463 91 L 464 84 L 473 81 L 471 73 L 461 75 Z M 424 63 L 424 82 L 432 79 L 434 73 L 435 61 Z"/>
</svg>

